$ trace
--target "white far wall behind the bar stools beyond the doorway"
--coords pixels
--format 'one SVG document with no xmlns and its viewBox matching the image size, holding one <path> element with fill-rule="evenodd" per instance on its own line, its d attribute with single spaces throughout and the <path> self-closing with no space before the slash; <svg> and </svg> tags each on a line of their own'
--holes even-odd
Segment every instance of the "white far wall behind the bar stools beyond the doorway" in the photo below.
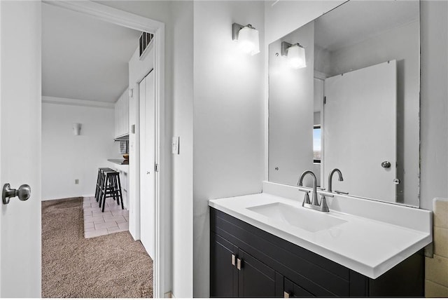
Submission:
<svg viewBox="0 0 448 300">
<path fill-rule="evenodd" d="M 42 104 L 42 200 L 94 195 L 98 168 L 120 158 L 113 117 L 113 109 Z M 72 123 L 82 124 L 80 135 Z"/>
</svg>

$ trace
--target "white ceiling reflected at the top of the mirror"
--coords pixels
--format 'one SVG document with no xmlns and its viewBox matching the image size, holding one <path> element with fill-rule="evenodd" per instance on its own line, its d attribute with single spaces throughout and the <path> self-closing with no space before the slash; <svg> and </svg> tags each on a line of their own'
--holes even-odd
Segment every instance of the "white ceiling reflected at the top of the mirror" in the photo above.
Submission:
<svg viewBox="0 0 448 300">
<path fill-rule="evenodd" d="M 316 19 L 315 43 L 329 51 L 419 19 L 419 1 L 349 1 Z"/>
</svg>

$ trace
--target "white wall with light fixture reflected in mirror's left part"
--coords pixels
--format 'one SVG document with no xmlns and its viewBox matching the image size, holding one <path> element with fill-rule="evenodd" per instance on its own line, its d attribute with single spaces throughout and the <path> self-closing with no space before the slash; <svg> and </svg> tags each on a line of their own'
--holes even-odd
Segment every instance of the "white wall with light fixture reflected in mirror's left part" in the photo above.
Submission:
<svg viewBox="0 0 448 300">
<path fill-rule="evenodd" d="M 296 185 L 313 170 L 314 55 L 307 67 L 293 69 L 281 53 L 281 42 L 300 44 L 314 53 L 314 22 L 269 45 L 269 182 Z M 311 177 L 303 184 L 312 186 Z"/>
</svg>

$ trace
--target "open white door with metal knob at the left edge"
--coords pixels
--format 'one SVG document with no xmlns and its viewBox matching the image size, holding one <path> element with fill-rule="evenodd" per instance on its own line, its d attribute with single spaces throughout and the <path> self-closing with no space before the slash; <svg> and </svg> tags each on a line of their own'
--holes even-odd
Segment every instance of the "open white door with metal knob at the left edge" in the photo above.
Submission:
<svg viewBox="0 0 448 300">
<path fill-rule="evenodd" d="M 0 1 L 0 296 L 41 297 L 41 2 Z"/>
</svg>

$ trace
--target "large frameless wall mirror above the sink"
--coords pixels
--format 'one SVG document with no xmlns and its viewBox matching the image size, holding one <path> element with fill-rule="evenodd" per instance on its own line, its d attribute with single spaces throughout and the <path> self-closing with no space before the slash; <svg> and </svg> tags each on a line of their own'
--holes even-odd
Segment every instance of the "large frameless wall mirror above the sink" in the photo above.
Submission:
<svg viewBox="0 0 448 300">
<path fill-rule="evenodd" d="M 419 207 L 419 16 L 347 1 L 269 45 L 269 182 Z"/>
</svg>

